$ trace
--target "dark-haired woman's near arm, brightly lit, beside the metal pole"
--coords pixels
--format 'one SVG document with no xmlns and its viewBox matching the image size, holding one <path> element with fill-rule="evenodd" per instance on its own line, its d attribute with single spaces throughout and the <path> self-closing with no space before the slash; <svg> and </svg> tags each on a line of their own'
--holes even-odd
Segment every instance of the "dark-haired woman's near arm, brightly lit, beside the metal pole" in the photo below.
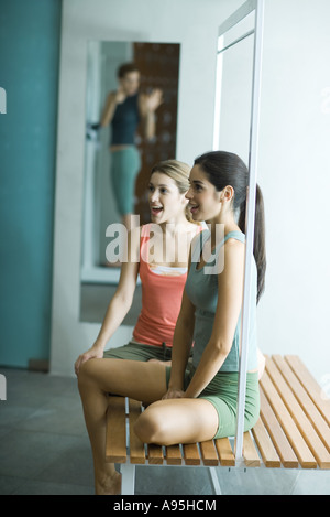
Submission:
<svg viewBox="0 0 330 517">
<path fill-rule="evenodd" d="M 218 274 L 218 304 L 212 334 L 184 395 L 196 398 L 223 365 L 232 346 L 243 297 L 244 244 L 228 240 L 224 269 Z"/>
</svg>

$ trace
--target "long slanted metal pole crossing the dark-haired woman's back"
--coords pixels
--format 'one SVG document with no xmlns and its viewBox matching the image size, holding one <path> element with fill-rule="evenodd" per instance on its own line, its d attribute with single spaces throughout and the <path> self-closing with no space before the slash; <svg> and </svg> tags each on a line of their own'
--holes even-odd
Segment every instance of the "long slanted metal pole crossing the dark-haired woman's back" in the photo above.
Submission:
<svg viewBox="0 0 330 517">
<path fill-rule="evenodd" d="M 246 392 L 246 371 L 249 353 L 249 326 L 250 326 L 250 294 L 253 266 L 253 240 L 254 240 L 254 218 L 256 197 L 256 171 L 257 171 L 257 144 L 258 144 L 258 119 L 260 119 L 260 95 L 262 76 L 262 49 L 263 49 L 263 19 L 264 0 L 256 1 L 255 8 L 255 39 L 254 39 L 254 65 L 253 65 L 253 88 L 251 109 L 251 132 L 250 132 L 250 158 L 249 158 L 249 198 L 246 209 L 246 246 L 245 246 L 245 272 L 244 293 L 241 321 L 241 356 L 239 373 L 239 397 L 238 397 L 238 422 L 235 441 L 235 461 L 243 462 L 243 433 L 244 433 L 244 410 Z"/>
</svg>

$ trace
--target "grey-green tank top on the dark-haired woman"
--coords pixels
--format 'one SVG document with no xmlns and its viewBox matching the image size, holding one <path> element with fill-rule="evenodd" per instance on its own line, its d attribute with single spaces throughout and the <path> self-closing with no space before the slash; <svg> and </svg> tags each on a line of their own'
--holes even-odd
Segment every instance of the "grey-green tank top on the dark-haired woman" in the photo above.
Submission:
<svg viewBox="0 0 330 517">
<path fill-rule="evenodd" d="M 196 239 L 195 247 L 191 250 L 191 266 L 189 269 L 186 292 L 191 303 L 195 305 L 195 331 L 193 364 L 198 366 L 205 347 L 207 346 L 213 327 L 218 303 L 218 274 L 217 261 L 224 243 L 229 238 L 234 238 L 241 243 L 245 241 L 245 235 L 241 231 L 230 231 L 224 239 L 216 247 L 210 260 L 201 268 L 197 269 L 200 260 L 201 250 L 206 241 L 210 238 L 210 231 L 201 231 Z M 222 250 L 223 251 L 223 250 Z M 212 269 L 213 268 L 213 269 Z M 252 268 L 252 289 L 251 289 L 251 309 L 250 309 L 250 328 L 249 328 L 249 358 L 248 370 L 257 368 L 257 337 L 256 337 L 256 265 L 253 260 Z M 235 327 L 232 347 L 219 371 L 239 371 L 240 358 L 240 337 L 241 337 L 241 313 Z"/>
</svg>

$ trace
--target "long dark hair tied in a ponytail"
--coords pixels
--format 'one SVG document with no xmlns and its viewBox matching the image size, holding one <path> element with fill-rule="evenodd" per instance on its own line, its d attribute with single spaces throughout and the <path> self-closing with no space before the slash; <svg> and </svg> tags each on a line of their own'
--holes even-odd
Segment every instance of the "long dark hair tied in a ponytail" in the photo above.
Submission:
<svg viewBox="0 0 330 517">
<path fill-rule="evenodd" d="M 195 165 L 199 165 L 206 172 L 217 191 L 222 191 L 227 185 L 233 187 L 233 209 L 240 212 L 238 225 L 245 234 L 249 170 L 243 160 L 232 152 L 211 151 L 196 158 Z M 265 289 L 266 272 L 264 200 L 258 185 L 256 185 L 253 255 L 257 270 L 256 302 L 258 303 Z"/>
</svg>

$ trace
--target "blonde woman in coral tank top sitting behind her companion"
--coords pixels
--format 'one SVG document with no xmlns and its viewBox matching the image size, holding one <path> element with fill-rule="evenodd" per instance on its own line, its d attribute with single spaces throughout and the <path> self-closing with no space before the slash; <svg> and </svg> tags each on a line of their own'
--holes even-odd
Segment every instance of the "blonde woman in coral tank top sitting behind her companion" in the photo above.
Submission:
<svg viewBox="0 0 330 517">
<path fill-rule="evenodd" d="M 190 168 L 177 160 L 161 162 L 152 169 L 148 183 L 152 224 L 130 231 L 128 261 L 122 263 L 118 289 L 96 342 L 75 363 L 76 374 L 91 358 L 170 360 L 190 241 L 201 229 L 191 223 L 187 208 L 189 172 Z M 131 308 L 138 274 L 142 282 L 142 311 L 132 340 L 105 352 Z"/>
</svg>

